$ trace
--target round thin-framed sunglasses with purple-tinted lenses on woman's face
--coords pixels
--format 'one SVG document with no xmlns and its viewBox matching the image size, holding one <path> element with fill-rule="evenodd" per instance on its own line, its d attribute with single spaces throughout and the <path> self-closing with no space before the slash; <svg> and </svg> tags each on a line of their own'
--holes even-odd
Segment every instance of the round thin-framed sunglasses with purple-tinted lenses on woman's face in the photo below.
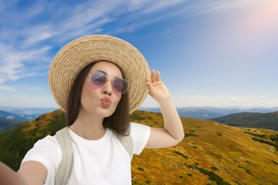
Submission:
<svg viewBox="0 0 278 185">
<path fill-rule="evenodd" d="M 96 88 L 101 88 L 107 81 L 108 77 L 103 72 L 95 70 L 89 75 L 91 84 Z M 124 94 L 128 91 L 128 82 L 123 78 L 110 78 L 112 80 L 113 90 L 116 93 Z"/>
</svg>

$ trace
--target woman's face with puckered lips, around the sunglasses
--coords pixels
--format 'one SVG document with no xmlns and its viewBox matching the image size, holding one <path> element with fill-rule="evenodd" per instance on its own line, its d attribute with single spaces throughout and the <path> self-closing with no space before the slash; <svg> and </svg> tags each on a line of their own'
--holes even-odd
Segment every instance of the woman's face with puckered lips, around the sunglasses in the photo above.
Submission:
<svg viewBox="0 0 278 185">
<path fill-rule="evenodd" d="M 103 86 L 96 87 L 91 84 L 89 75 L 93 71 L 101 71 L 108 77 Z M 114 78 L 123 78 L 117 65 L 105 61 L 93 65 L 83 83 L 80 111 L 101 117 L 112 115 L 121 97 L 121 94 L 113 89 L 112 81 Z"/>
</svg>

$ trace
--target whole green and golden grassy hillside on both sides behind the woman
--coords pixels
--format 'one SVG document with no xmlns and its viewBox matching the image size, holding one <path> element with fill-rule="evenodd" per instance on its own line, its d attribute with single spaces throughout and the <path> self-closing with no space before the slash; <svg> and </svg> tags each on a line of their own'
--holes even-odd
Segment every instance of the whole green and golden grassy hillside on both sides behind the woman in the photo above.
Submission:
<svg viewBox="0 0 278 185">
<path fill-rule="evenodd" d="M 160 113 L 135 111 L 133 122 L 163 127 Z M 278 132 L 182 118 L 175 147 L 144 149 L 132 162 L 133 184 L 278 184 Z M 18 169 L 37 139 L 66 125 L 61 110 L 0 134 L 0 159 Z"/>
</svg>

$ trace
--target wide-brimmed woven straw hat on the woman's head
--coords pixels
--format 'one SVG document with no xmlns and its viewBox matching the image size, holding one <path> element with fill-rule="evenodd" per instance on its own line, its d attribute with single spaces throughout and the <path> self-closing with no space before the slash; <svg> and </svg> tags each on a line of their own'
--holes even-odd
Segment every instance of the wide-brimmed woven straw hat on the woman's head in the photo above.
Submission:
<svg viewBox="0 0 278 185">
<path fill-rule="evenodd" d="M 130 113 L 143 103 L 148 95 L 146 80 L 150 78 L 150 68 L 140 51 L 113 36 L 84 36 L 63 46 L 49 68 L 51 93 L 64 112 L 67 112 L 68 96 L 78 73 L 86 65 L 99 60 L 113 62 L 123 70 L 129 85 Z"/>
</svg>

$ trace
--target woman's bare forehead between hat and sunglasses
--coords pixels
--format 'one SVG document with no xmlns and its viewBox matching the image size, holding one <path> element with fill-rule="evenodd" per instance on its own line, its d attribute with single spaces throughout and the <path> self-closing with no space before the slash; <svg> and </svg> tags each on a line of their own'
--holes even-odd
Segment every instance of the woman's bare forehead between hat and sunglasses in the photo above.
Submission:
<svg viewBox="0 0 278 185">
<path fill-rule="evenodd" d="M 120 72 L 120 68 L 118 68 L 117 65 L 115 65 L 114 63 L 107 62 L 107 61 L 100 61 L 100 62 L 96 63 L 95 65 L 93 65 L 90 72 L 92 72 L 93 70 L 101 70 L 110 77 L 122 78 L 122 76 L 123 76 L 122 73 Z"/>
</svg>

